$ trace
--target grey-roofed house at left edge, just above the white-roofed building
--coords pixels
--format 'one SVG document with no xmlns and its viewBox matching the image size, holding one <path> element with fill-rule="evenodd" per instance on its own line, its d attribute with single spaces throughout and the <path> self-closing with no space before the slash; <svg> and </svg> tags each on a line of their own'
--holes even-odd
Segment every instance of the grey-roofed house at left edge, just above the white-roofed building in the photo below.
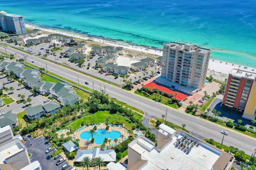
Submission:
<svg viewBox="0 0 256 170">
<path fill-rule="evenodd" d="M 14 128 L 18 124 L 17 114 L 13 114 L 12 111 L 8 111 L 4 115 L 0 116 L 0 127 L 10 125 Z"/>
</svg>

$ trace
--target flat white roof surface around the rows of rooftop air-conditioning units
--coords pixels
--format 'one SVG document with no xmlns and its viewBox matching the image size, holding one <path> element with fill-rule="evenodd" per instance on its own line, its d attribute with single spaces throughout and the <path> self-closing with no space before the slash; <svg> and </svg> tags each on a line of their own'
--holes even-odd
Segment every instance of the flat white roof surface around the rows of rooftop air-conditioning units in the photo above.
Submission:
<svg viewBox="0 0 256 170">
<path fill-rule="evenodd" d="M 179 149 L 174 144 L 177 138 L 180 139 L 183 132 L 174 136 L 172 142 L 161 151 L 157 149 L 148 150 L 152 142 L 145 137 L 138 137 L 129 144 L 129 147 L 136 150 L 142 156 L 142 160 L 148 160 L 141 170 L 169 169 L 169 170 L 210 170 L 213 164 L 222 154 L 221 151 L 201 143 L 194 145 L 189 153 Z M 188 136 L 188 135 L 187 135 Z M 189 136 L 188 136 L 189 137 Z M 191 138 L 191 137 L 190 137 Z M 196 141 L 197 139 L 194 139 Z M 143 142 L 142 142 L 143 141 Z M 143 145 L 142 145 L 143 144 Z M 147 147 L 145 147 L 145 145 Z"/>
</svg>

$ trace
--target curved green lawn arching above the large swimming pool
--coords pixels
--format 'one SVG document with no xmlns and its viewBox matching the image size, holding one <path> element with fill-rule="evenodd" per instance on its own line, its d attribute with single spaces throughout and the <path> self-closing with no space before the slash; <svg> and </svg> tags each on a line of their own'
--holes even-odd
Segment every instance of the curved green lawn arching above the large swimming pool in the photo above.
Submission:
<svg viewBox="0 0 256 170">
<path fill-rule="evenodd" d="M 94 117 L 96 117 L 95 121 L 94 121 Z M 82 123 L 84 123 L 84 118 L 86 119 L 86 124 L 88 124 L 88 123 L 104 123 L 107 117 L 110 117 L 109 123 L 115 123 L 115 121 L 116 121 L 116 123 L 118 123 L 118 121 L 119 121 L 118 117 L 121 117 L 120 123 L 123 123 L 124 127 L 126 129 L 131 129 L 132 126 L 135 126 L 134 123 L 132 123 L 132 121 L 130 121 L 126 117 L 110 114 L 109 111 L 98 111 L 93 115 L 88 115 L 88 116 L 82 117 L 82 118 L 74 121 L 70 125 L 73 126 L 74 130 L 75 130 L 75 129 L 80 128 L 80 125 Z M 115 120 L 115 117 L 117 117 L 116 120 Z"/>
</svg>

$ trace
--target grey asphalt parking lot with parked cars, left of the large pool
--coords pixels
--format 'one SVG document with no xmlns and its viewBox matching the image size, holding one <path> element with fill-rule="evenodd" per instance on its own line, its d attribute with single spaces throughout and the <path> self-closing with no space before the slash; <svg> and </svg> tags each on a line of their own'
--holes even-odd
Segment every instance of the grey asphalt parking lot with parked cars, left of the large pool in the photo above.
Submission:
<svg viewBox="0 0 256 170">
<path fill-rule="evenodd" d="M 35 160 L 38 160 L 41 164 L 42 170 L 61 170 L 62 166 L 68 163 L 67 161 L 64 161 L 62 164 L 58 166 L 56 165 L 56 162 L 60 160 L 62 156 L 54 160 L 54 158 L 51 158 L 51 154 L 53 154 L 53 151 L 49 152 L 48 154 L 45 153 L 45 151 L 50 147 L 50 143 L 43 136 L 40 136 L 36 139 L 31 137 L 30 135 L 28 135 L 27 137 L 28 140 L 26 141 L 25 145 L 28 152 L 32 154 L 30 156 L 30 161 L 34 162 Z M 66 170 L 71 169 L 72 166 L 70 166 Z"/>
</svg>

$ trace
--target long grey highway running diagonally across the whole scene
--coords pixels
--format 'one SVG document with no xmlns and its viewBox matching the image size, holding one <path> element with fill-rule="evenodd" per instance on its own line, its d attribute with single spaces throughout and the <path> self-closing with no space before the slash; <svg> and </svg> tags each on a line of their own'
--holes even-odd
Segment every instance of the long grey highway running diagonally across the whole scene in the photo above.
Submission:
<svg viewBox="0 0 256 170">
<path fill-rule="evenodd" d="M 4 47 L 2 45 L 0 45 L 0 51 L 4 51 Z M 15 57 L 17 58 L 24 58 L 23 53 L 18 50 L 6 47 L 6 51 L 8 54 L 17 53 L 15 55 Z M 46 68 L 47 63 L 48 71 L 68 78 L 69 80 L 72 80 L 74 82 L 78 82 L 78 75 L 80 83 L 85 81 L 89 82 L 89 85 L 86 85 L 89 88 L 92 88 L 92 82 L 94 82 L 94 90 L 100 91 L 100 88 L 101 90 L 104 90 L 106 88 L 106 93 L 109 94 L 109 96 L 145 111 L 148 117 L 161 117 L 162 114 L 165 115 L 166 108 L 168 108 L 166 118 L 167 121 L 170 121 L 180 126 L 183 123 L 186 124 L 186 129 L 191 131 L 193 135 L 200 138 L 212 138 L 214 139 L 214 141 L 217 141 L 219 143 L 221 143 L 222 141 L 223 135 L 220 133 L 220 131 L 222 131 L 224 128 L 214 123 L 205 121 L 193 115 L 189 115 L 182 111 L 172 109 L 171 107 L 166 107 L 165 105 L 159 104 L 158 102 L 154 102 L 152 100 L 148 100 L 141 96 L 131 94 L 126 90 L 117 88 L 116 86 L 112 86 L 108 83 L 104 83 L 94 78 L 90 78 L 84 74 L 69 70 L 68 68 L 64 68 L 54 63 L 44 61 L 33 55 L 28 55 L 26 59 L 27 62 L 31 63 L 32 61 L 34 61 L 34 65 L 44 68 Z M 224 137 L 223 145 L 232 145 L 234 147 L 238 147 L 240 150 L 244 150 L 247 154 L 252 154 L 252 152 L 254 152 L 254 148 L 256 147 L 256 142 L 254 139 L 241 135 L 240 133 L 229 131 L 228 136 Z"/>
</svg>

